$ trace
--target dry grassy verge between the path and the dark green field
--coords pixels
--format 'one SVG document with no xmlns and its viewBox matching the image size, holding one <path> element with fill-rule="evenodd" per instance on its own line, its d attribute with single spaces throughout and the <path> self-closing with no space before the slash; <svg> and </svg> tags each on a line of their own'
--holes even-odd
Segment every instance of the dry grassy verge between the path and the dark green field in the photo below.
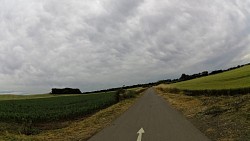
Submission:
<svg viewBox="0 0 250 141">
<path fill-rule="evenodd" d="M 42 124 L 44 130 L 36 135 L 24 135 L 18 133 L 1 132 L 0 140 L 17 141 L 42 141 L 42 140 L 64 140 L 86 141 L 91 136 L 108 126 L 113 120 L 124 113 L 142 94 L 135 98 L 125 99 L 95 114 L 77 120 Z M 0 126 L 6 123 L 0 123 Z M 13 125 L 13 124 L 12 124 Z M 9 124 L 8 124 L 9 126 Z M 15 126 L 15 125 L 14 125 Z M 9 128 L 15 128 L 9 126 Z M 18 127 L 18 125 L 16 125 Z M 53 127 L 53 129 L 51 129 Z M 57 129 L 58 128 L 58 129 Z"/>
</svg>

